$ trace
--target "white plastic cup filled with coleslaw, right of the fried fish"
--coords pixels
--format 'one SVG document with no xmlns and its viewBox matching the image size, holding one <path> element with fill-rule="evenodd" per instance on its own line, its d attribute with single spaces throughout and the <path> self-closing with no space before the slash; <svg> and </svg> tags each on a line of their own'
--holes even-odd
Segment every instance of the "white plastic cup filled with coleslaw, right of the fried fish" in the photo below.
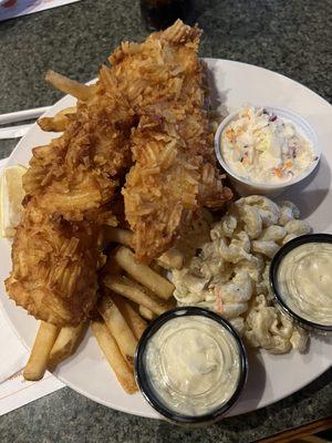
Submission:
<svg viewBox="0 0 332 443">
<path fill-rule="evenodd" d="M 308 177 L 321 156 L 317 134 L 303 117 L 269 106 L 228 115 L 216 132 L 215 152 L 240 195 L 271 197 Z"/>
</svg>

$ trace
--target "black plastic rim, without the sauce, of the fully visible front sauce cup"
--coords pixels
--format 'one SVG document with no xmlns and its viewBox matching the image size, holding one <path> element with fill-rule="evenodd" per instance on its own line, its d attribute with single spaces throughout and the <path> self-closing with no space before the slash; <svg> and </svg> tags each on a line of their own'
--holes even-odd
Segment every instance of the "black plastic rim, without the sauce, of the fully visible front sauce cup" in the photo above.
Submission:
<svg viewBox="0 0 332 443">
<path fill-rule="evenodd" d="M 230 341 L 232 342 L 232 346 L 237 351 L 238 374 L 234 392 L 230 394 L 229 399 L 226 402 L 221 402 L 221 404 L 214 406 L 211 411 L 201 414 L 181 413 L 178 408 L 173 408 L 172 405 L 169 405 L 169 403 L 167 404 L 165 398 L 163 399 L 163 396 L 160 396 L 160 392 L 158 392 L 156 385 L 154 385 L 153 378 L 151 377 L 151 372 L 147 368 L 148 363 L 146 362 L 148 346 L 151 343 L 151 340 L 156 337 L 155 334 L 158 331 L 163 331 L 164 328 L 167 327 L 167 323 L 169 321 L 188 317 L 194 317 L 195 319 L 198 318 L 211 320 L 211 324 L 214 324 L 214 328 L 220 328 L 220 333 L 225 333 L 225 336 L 231 337 Z M 203 322 L 208 320 L 203 320 Z M 162 352 L 159 348 L 158 350 Z M 181 425 L 204 425 L 220 420 L 222 415 L 238 400 L 247 380 L 247 352 L 240 337 L 231 327 L 231 324 L 217 313 L 197 307 L 175 308 L 157 317 L 144 331 L 138 342 L 135 356 L 135 378 L 143 396 L 166 420 L 175 424 Z M 173 391 L 173 393 L 176 393 L 176 391 Z"/>
</svg>

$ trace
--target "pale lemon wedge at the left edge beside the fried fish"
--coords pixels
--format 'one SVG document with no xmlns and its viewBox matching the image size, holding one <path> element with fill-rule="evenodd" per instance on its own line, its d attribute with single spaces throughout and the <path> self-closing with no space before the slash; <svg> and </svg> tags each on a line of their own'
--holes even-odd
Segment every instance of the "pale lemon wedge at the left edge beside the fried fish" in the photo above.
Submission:
<svg viewBox="0 0 332 443">
<path fill-rule="evenodd" d="M 22 216 L 24 190 L 22 176 L 27 168 L 21 165 L 7 167 L 0 182 L 0 236 L 11 238 Z"/>
</svg>

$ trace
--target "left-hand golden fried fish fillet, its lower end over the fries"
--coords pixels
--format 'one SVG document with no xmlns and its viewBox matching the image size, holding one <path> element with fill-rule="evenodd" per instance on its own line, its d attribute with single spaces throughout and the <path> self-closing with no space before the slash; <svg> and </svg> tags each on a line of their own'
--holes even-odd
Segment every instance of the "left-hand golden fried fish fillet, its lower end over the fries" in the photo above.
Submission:
<svg viewBox="0 0 332 443">
<path fill-rule="evenodd" d="M 133 112 L 98 81 L 59 138 L 35 147 L 12 246 L 9 296 L 38 319 L 79 324 L 96 301 L 98 237 L 132 164 Z"/>
</svg>

